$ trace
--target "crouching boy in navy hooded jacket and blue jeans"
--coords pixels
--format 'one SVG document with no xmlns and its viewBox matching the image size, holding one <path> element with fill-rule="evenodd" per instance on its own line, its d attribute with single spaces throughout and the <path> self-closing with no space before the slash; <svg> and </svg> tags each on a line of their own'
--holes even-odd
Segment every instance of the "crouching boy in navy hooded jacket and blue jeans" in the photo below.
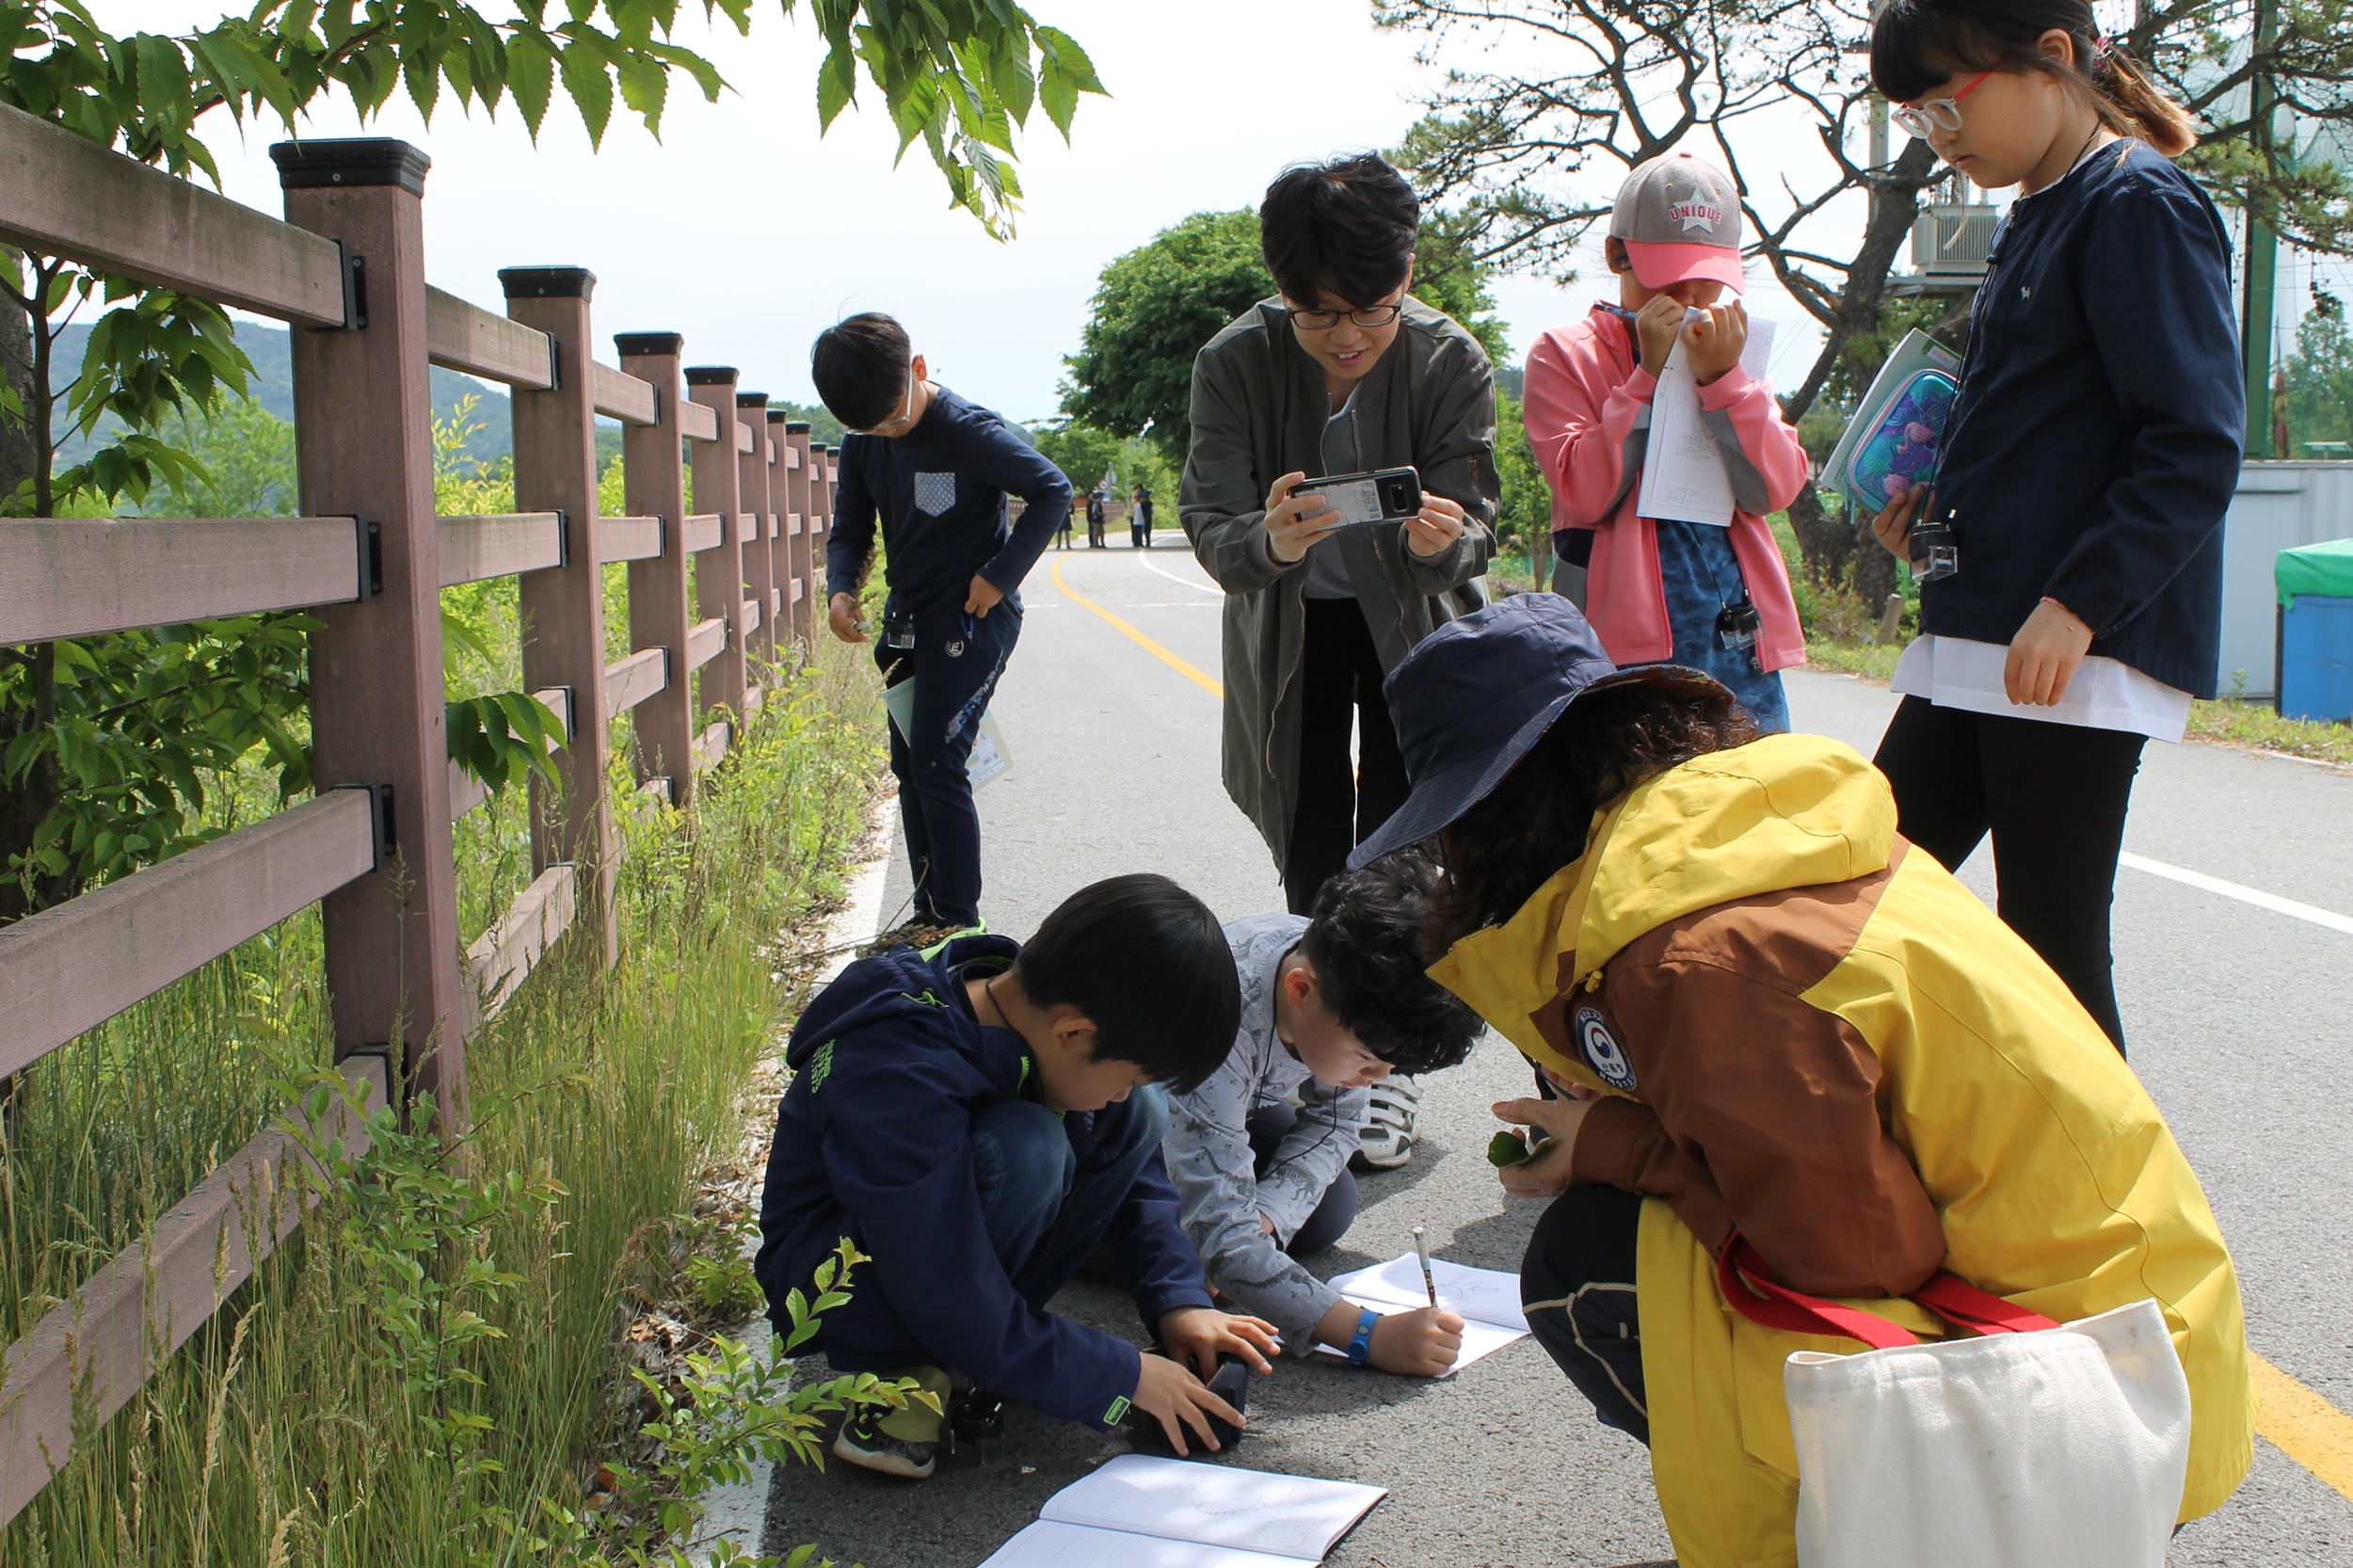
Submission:
<svg viewBox="0 0 2353 1568">
<path fill-rule="evenodd" d="M 1099 1431 L 1129 1406 L 1207 1448 L 1219 1354 L 1266 1373 L 1275 1330 L 1209 1307 L 1160 1163 L 1167 1090 L 1233 1050 L 1240 994 L 1217 916 L 1165 876 L 1071 895 L 1031 942 L 894 946 L 842 970 L 793 1029 L 793 1085 L 760 1203 L 769 1316 L 849 1236 L 871 1264 L 809 1349 L 835 1373 L 913 1377 L 981 1427 L 1002 1398 Z M 1127 1271 L 1167 1356 L 1049 1314 L 1094 1245 Z M 993 1389 L 993 1391 L 991 1391 Z M 833 1453 L 932 1474 L 941 1415 L 854 1413 Z"/>
</svg>

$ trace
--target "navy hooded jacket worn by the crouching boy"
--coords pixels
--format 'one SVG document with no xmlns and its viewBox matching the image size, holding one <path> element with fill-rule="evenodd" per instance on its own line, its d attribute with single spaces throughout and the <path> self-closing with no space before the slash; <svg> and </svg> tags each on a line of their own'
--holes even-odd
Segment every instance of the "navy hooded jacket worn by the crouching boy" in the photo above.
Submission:
<svg viewBox="0 0 2353 1568">
<path fill-rule="evenodd" d="M 974 1017 L 958 968 L 995 972 L 1019 951 L 1007 937 L 958 937 L 929 961 L 896 946 L 819 991 L 786 1048 L 793 1085 L 776 1107 L 753 1271 L 784 1333 L 786 1290 L 809 1295 L 816 1264 L 849 1236 L 873 1262 L 807 1344 L 835 1373 L 941 1366 L 1108 1431 L 1136 1391 L 1136 1347 L 1021 1300 L 988 1245 L 972 1175 L 972 1118 L 1019 1097 L 1035 1067 L 1019 1034 Z M 1125 1116 L 1127 1102 L 1068 1111 L 1064 1128 L 1087 1154 L 1096 1128 Z M 1209 1304 L 1158 1151 L 1104 1238 L 1146 1326 Z"/>
</svg>

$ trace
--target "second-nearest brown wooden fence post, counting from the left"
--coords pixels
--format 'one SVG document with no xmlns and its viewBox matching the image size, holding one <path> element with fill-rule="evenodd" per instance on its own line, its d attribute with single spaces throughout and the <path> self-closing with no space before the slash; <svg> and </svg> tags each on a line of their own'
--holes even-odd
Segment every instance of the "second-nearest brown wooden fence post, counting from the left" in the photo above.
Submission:
<svg viewBox="0 0 2353 1568">
<path fill-rule="evenodd" d="M 558 803 L 532 782 L 532 871 L 572 862 L 574 897 L 588 897 L 588 918 L 602 932 L 605 965 L 619 963 L 621 937 L 612 904 L 612 800 L 605 796 L 605 567 L 598 563 L 595 511 L 595 339 L 588 299 L 595 273 L 586 266 L 508 266 L 499 271 L 506 315 L 551 339 L 555 386 L 513 388 L 515 511 L 565 516 L 565 560 L 525 572 L 522 690 L 572 692 L 569 737 L 558 756 L 565 782 Z M 595 881 L 586 871 L 595 866 Z"/>
</svg>

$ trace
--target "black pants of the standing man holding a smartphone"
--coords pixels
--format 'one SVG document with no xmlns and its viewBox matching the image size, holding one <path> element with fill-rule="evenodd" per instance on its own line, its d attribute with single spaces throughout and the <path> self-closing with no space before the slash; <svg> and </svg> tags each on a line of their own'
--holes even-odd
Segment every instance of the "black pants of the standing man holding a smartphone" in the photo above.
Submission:
<svg viewBox="0 0 2353 1568">
<path fill-rule="evenodd" d="M 1299 662 L 1299 805 L 1282 855 L 1282 897 L 1292 913 L 1313 913 L 1325 878 L 1344 869 L 1348 850 L 1372 838 L 1400 805 L 1405 756 L 1388 723 L 1381 655 L 1365 612 L 1353 598 L 1311 598 Z"/>
</svg>

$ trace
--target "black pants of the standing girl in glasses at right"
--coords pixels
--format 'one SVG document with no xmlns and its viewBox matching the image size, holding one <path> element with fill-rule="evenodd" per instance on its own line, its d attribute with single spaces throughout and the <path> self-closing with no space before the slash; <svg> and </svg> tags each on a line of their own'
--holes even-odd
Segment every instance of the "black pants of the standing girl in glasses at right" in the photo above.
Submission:
<svg viewBox="0 0 2353 1568">
<path fill-rule="evenodd" d="M 1993 833 L 2002 923 L 2052 965 L 2118 1050 L 2108 906 L 2148 739 L 1906 697 L 1880 739 L 1897 831 L 1951 871 Z"/>
</svg>

